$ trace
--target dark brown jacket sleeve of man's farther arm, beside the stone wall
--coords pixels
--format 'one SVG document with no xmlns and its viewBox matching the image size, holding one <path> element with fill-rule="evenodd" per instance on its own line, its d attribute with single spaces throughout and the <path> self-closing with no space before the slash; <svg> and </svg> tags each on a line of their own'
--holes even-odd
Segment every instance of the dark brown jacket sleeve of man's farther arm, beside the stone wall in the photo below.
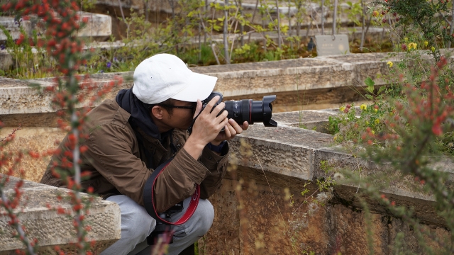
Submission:
<svg viewBox="0 0 454 255">
<path fill-rule="evenodd" d="M 223 156 L 214 154 L 208 147 L 204 148 L 199 161 L 209 169 L 209 174 L 200 185 L 200 198 L 209 198 L 221 186 L 228 167 L 228 143 L 224 145 Z"/>
</svg>

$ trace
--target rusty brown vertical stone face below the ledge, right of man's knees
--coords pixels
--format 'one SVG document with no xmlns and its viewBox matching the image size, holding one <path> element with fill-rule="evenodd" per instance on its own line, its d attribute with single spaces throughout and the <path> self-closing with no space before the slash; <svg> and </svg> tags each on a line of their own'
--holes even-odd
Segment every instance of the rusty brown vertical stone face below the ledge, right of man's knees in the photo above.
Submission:
<svg viewBox="0 0 454 255">
<path fill-rule="evenodd" d="M 210 198 L 215 208 L 214 225 L 204 239 L 199 240 L 199 251 L 206 254 L 304 254 L 311 251 L 315 254 L 369 254 L 366 233 L 370 229 L 375 254 L 392 254 L 392 244 L 399 232 L 404 234 L 402 249 L 409 249 L 412 254 L 426 254 L 415 232 L 402 220 L 376 212 L 367 218 L 362 210 L 345 207 L 336 200 L 326 205 L 314 203 L 314 199 L 299 195 L 301 189 L 291 184 L 270 183 L 268 186 L 245 175 L 241 178 L 242 181 L 224 179 L 221 189 Z M 273 176 L 267 174 L 267 178 Z M 286 187 L 290 188 L 288 192 L 284 191 Z M 312 193 L 316 186 L 306 188 Z M 293 195 L 292 200 L 289 194 Z M 443 227 L 432 226 L 430 231 L 440 239 L 449 236 Z M 427 238 L 426 242 L 428 246 L 438 246 Z"/>
</svg>

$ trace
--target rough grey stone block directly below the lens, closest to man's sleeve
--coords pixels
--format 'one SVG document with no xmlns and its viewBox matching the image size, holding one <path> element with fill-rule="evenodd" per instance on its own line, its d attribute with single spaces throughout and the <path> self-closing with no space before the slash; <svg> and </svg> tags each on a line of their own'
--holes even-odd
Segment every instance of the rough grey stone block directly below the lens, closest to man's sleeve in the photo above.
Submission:
<svg viewBox="0 0 454 255">
<path fill-rule="evenodd" d="M 260 124 L 254 124 L 240 137 L 243 142 L 231 142 L 235 164 L 304 180 L 312 179 L 314 150 L 332 140 L 331 135 L 313 130 L 265 128 Z"/>
</svg>

